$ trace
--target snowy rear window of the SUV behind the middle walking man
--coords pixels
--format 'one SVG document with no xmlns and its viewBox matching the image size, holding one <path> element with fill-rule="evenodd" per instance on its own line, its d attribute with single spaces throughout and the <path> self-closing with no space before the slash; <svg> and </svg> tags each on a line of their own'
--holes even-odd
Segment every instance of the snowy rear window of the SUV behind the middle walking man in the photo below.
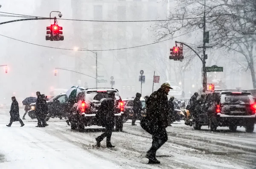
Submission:
<svg viewBox="0 0 256 169">
<path fill-rule="evenodd" d="M 103 98 L 108 97 L 109 92 L 114 92 L 116 100 L 120 99 L 120 96 L 117 91 L 109 90 L 109 91 L 87 91 L 85 95 L 85 102 L 99 102 Z"/>
</svg>

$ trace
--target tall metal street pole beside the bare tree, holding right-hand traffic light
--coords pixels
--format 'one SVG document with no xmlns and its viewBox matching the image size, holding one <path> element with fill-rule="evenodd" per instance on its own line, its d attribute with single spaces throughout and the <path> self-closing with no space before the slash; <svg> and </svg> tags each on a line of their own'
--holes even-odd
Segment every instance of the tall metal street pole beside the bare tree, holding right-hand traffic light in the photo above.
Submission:
<svg viewBox="0 0 256 169">
<path fill-rule="evenodd" d="M 206 51 L 206 40 L 205 40 L 205 29 L 206 29 L 206 20 L 205 20 L 205 0 L 204 0 L 204 34 L 203 34 L 203 55 L 204 57 L 203 59 L 203 92 L 205 92 L 207 90 L 207 72 L 206 72 L 206 68 L 205 68 L 205 51 Z"/>
</svg>

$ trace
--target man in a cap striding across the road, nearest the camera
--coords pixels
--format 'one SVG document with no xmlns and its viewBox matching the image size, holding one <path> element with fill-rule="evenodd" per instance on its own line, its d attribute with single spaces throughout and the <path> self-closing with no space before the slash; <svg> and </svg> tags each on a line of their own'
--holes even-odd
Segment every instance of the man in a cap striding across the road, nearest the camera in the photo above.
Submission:
<svg viewBox="0 0 256 169">
<path fill-rule="evenodd" d="M 161 88 L 153 92 L 147 101 L 147 127 L 148 131 L 152 135 L 152 146 L 146 154 L 148 163 L 155 164 L 160 163 L 156 158 L 157 149 L 159 149 L 167 140 L 166 127 L 168 126 L 168 93 L 171 86 L 169 83 L 163 83 Z M 142 126 L 142 123 L 141 123 Z"/>
</svg>

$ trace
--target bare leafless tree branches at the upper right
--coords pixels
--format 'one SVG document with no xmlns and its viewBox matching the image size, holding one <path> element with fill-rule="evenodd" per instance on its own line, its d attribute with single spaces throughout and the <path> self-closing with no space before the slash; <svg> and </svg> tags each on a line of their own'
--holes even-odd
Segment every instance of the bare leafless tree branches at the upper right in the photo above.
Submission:
<svg viewBox="0 0 256 169">
<path fill-rule="evenodd" d="M 203 14 L 204 0 L 179 0 L 169 16 L 175 21 L 160 22 L 155 27 L 157 39 L 197 29 L 203 23 Z M 253 88 L 256 89 L 256 1 L 207 0 L 206 17 L 210 45 L 218 50 L 239 53 L 244 61 L 241 65 L 245 65 L 246 71 L 250 70 Z"/>
</svg>

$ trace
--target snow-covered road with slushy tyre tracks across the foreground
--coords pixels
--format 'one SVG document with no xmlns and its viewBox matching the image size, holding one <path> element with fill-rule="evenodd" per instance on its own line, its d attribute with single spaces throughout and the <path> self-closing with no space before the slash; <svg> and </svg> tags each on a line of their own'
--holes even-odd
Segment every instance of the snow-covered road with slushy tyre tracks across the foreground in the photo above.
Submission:
<svg viewBox="0 0 256 169">
<path fill-rule="evenodd" d="M 23 110 L 20 110 L 23 115 Z M 196 131 L 182 123 L 167 128 L 169 140 L 157 152 L 158 165 L 148 165 L 145 152 L 151 136 L 138 126 L 124 124 L 123 132 L 113 132 L 115 148 L 95 147 L 101 127 L 73 131 L 67 123 L 50 119 L 46 128 L 36 128 L 35 120 L 6 127 L 9 110 L 0 109 L 0 169 L 256 169 L 256 132 L 244 128 L 230 132 L 219 127 Z"/>
</svg>

